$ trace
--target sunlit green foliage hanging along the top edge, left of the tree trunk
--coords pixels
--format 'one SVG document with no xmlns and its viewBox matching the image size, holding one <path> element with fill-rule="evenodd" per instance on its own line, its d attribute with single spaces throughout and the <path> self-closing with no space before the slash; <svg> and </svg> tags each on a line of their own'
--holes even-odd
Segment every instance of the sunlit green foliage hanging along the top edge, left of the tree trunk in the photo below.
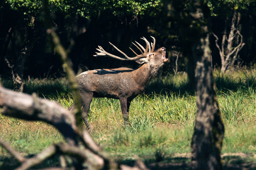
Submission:
<svg viewBox="0 0 256 170">
<path fill-rule="evenodd" d="M 42 1 L 36 0 L 6 0 L 15 11 L 23 11 L 24 15 L 38 15 L 42 12 Z M 138 16 L 153 14 L 160 7 L 161 0 L 98 0 L 98 1 L 63 1 L 49 0 L 52 12 L 64 12 L 65 14 L 80 15 L 85 18 L 97 15 L 98 12 L 108 10 L 113 15 L 123 18 L 125 16 Z M 54 7 L 53 7 L 54 6 Z M 147 11 L 150 11 L 149 13 Z"/>
</svg>

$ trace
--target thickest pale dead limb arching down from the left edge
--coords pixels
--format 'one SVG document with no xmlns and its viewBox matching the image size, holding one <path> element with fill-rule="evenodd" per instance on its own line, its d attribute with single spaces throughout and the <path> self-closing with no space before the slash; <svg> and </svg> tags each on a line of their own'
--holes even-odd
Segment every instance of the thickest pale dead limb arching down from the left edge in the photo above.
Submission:
<svg viewBox="0 0 256 170">
<path fill-rule="evenodd" d="M 77 145 L 75 118 L 56 102 L 0 87 L 0 107 L 3 107 L 2 114 L 7 116 L 47 122 L 63 134 L 69 145 Z"/>
</svg>

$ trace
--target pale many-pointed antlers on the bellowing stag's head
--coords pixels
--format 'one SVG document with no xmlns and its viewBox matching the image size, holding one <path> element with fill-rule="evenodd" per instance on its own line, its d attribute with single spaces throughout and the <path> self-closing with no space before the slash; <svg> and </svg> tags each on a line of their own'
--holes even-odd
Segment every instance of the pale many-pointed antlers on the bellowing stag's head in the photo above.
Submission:
<svg viewBox="0 0 256 170">
<path fill-rule="evenodd" d="M 152 36 L 151 36 L 152 37 Z M 142 40 L 144 40 L 146 42 L 146 49 L 141 45 L 139 44 L 139 42 L 135 41 L 139 46 L 137 46 L 134 42 L 133 45 L 135 45 L 141 52 L 141 54 L 137 54 L 134 52 L 133 49 L 131 49 L 131 51 L 136 55 L 135 57 L 129 57 L 127 56 L 124 52 L 122 52 L 120 49 L 118 49 L 115 45 L 113 45 L 111 42 L 109 42 L 110 45 L 112 45 L 116 50 L 118 50 L 119 53 L 123 54 L 123 56 L 125 56 L 125 58 L 122 58 L 122 57 L 118 57 L 118 56 L 115 56 L 114 54 L 110 54 L 108 52 L 106 52 L 101 46 L 98 46 L 97 50 L 100 52 L 96 52 L 96 55 L 93 55 L 95 57 L 97 56 L 109 56 L 109 57 L 113 57 L 113 58 L 116 58 L 116 59 L 121 59 L 121 60 L 135 60 L 135 59 L 138 59 L 138 58 L 143 58 L 143 57 L 147 57 L 147 54 L 148 53 L 152 53 L 155 49 L 155 38 L 152 37 L 152 39 L 154 40 L 154 42 L 150 44 L 150 42 L 147 41 L 147 39 L 145 37 L 142 37 L 141 38 Z M 151 45 L 152 45 L 152 49 L 151 49 Z M 141 47 L 141 48 L 139 48 Z M 142 50 L 143 52 L 142 52 Z"/>
</svg>

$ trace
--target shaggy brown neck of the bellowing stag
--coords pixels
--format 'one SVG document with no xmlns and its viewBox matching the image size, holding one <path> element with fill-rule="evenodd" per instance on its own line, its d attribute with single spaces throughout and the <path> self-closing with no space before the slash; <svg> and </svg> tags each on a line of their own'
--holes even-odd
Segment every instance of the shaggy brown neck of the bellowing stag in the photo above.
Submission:
<svg viewBox="0 0 256 170">
<path fill-rule="evenodd" d="M 158 70 L 159 67 L 152 66 L 149 63 L 144 63 L 144 65 L 139 67 L 137 70 L 134 70 L 135 75 L 133 77 L 138 84 L 144 87 L 147 86 Z"/>
</svg>

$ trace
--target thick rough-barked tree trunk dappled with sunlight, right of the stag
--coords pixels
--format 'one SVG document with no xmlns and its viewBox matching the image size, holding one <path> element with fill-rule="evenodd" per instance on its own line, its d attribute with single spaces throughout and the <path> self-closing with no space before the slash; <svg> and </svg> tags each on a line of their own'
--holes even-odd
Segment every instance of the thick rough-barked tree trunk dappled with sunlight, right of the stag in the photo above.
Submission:
<svg viewBox="0 0 256 170">
<path fill-rule="evenodd" d="M 205 25 L 206 1 L 192 1 L 193 30 L 199 36 L 192 44 L 195 68 L 197 114 L 192 137 L 192 168 L 222 169 L 224 125 L 216 99 L 210 61 L 209 32 Z"/>
</svg>

